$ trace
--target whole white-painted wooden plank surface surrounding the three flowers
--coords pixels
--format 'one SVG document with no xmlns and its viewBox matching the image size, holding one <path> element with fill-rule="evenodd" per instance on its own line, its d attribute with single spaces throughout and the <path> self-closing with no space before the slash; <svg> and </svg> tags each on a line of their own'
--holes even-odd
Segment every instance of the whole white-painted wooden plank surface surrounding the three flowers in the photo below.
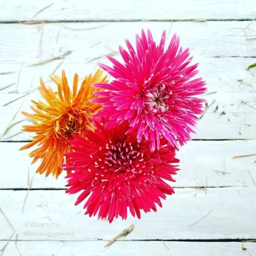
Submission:
<svg viewBox="0 0 256 256">
<path fill-rule="evenodd" d="M 0 255 L 256 255 L 256 6 L 245 1 L 0 1 Z M 70 80 L 150 28 L 189 47 L 208 108 L 178 153 L 175 194 L 140 220 L 84 216 L 18 148 L 39 76 Z M 43 63 L 38 65 L 38 63 Z M 28 190 L 29 188 L 29 190 Z M 104 247 L 122 230 L 134 230 Z"/>
</svg>

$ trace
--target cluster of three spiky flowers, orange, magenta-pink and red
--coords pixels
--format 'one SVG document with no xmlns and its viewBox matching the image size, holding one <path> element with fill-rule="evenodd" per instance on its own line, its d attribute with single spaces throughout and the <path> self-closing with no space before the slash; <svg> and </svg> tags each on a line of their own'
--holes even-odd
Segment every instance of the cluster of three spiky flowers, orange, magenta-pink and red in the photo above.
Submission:
<svg viewBox="0 0 256 256">
<path fill-rule="evenodd" d="M 191 139 L 206 88 L 179 37 L 166 49 L 165 39 L 164 31 L 157 44 L 142 30 L 135 47 L 129 40 L 127 50 L 119 47 L 123 63 L 107 56 L 111 67 L 99 64 L 80 87 L 75 74 L 72 90 L 64 71 L 52 77 L 56 91 L 40 79 L 45 102 L 23 112 L 33 120 L 23 131 L 35 135 L 20 150 L 37 146 L 29 156 L 40 160 L 39 174 L 65 170 L 66 193 L 80 193 L 75 205 L 83 202 L 90 217 L 140 218 L 174 194 L 176 152 Z"/>
</svg>

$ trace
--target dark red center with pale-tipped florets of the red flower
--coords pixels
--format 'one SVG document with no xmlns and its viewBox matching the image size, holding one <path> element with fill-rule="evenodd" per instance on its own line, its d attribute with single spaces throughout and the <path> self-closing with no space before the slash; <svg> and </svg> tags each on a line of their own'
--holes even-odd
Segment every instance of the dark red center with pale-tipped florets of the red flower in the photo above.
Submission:
<svg viewBox="0 0 256 256">
<path fill-rule="evenodd" d="M 143 153 L 139 151 L 139 145 L 131 142 L 117 142 L 106 144 L 104 164 L 114 173 L 135 173 L 138 166 L 145 161 Z"/>
</svg>

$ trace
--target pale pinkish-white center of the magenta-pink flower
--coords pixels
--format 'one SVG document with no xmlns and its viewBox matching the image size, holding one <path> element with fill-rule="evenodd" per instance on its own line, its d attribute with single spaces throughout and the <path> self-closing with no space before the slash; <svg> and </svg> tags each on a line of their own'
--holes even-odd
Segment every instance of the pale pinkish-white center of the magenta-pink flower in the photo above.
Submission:
<svg viewBox="0 0 256 256">
<path fill-rule="evenodd" d="M 170 95 L 172 94 L 173 92 L 167 90 L 164 84 L 149 88 L 144 94 L 145 105 L 153 113 L 168 111 Z"/>
</svg>

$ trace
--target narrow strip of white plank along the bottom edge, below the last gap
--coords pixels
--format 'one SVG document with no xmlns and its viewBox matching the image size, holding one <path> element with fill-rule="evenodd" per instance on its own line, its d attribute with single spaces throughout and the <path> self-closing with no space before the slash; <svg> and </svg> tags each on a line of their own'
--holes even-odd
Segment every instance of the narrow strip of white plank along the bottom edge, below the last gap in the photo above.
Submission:
<svg viewBox="0 0 256 256">
<path fill-rule="evenodd" d="M 244 256 L 254 255 L 256 243 L 244 242 L 170 242 L 170 241 L 116 241 L 105 247 L 106 241 L 11 241 L 4 251 L 4 256 L 22 255 L 38 256 Z M 0 241 L 0 248 L 6 241 Z M 250 254 L 249 254 L 250 253 Z"/>
</svg>

